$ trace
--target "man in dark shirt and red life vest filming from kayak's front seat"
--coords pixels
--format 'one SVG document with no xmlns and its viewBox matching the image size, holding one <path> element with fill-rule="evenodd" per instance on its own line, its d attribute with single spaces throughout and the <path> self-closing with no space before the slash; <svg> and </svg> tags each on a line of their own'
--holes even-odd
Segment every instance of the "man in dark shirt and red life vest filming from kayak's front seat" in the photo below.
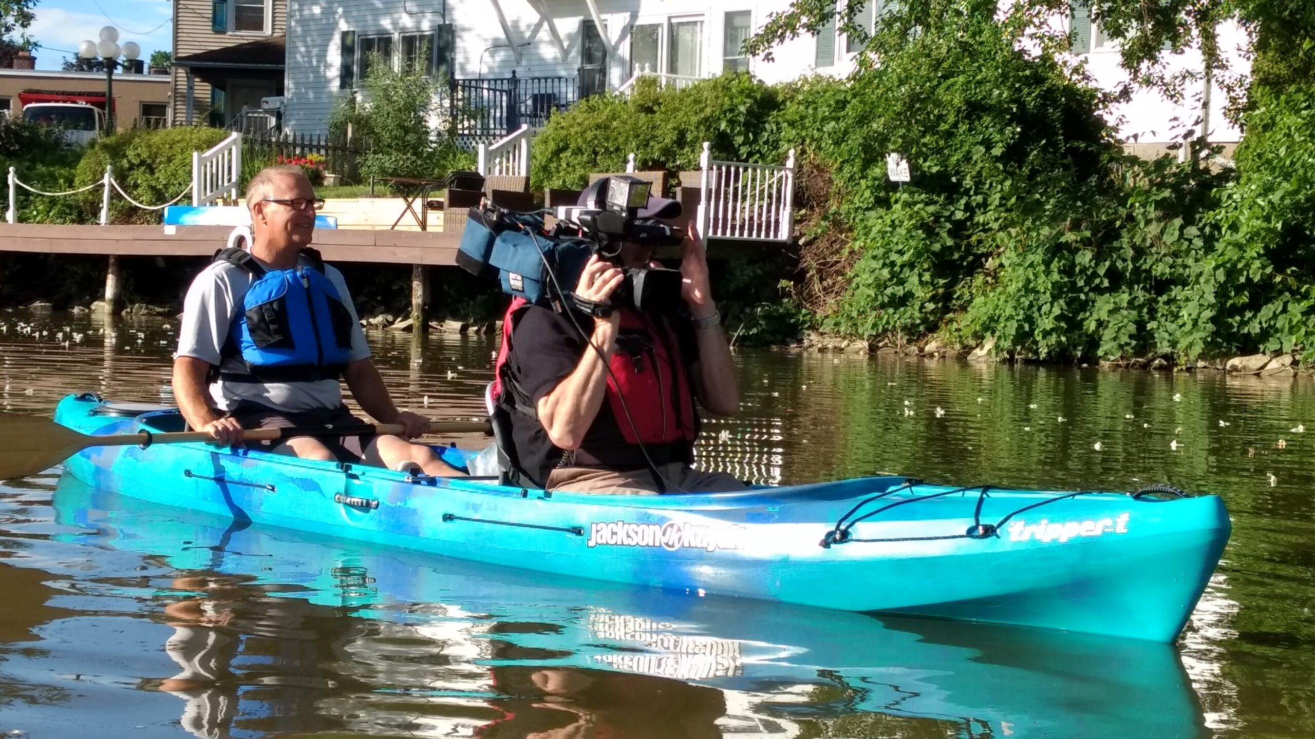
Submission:
<svg viewBox="0 0 1315 739">
<path fill-rule="evenodd" d="M 590 185 L 580 205 L 601 208 L 606 183 Z M 673 218 L 680 203 L 648 197 L 634 214 Z M 690 230 L 671 295 L 648 296 L 646 301 L 658 305 L 640 309 L 638 300 L 622 300 L 622 293 L 636 289 L 636 271 L 659 267 L 651 259 L 652 249 L 633 241 L 621 242 L 614 256 L 593 254 L 575 285 L 577 306 L 593 310 L 562 313 L 526 304 L 508 314 L 505 331 L 515 338 L 505 377 L 518 405 L 533 409 L 510 414 L 512 442 L 521 469 L 546 489 L 613 494 L 744 489 L 730 475 L 690 467 L 700 426 L 696 398 L 718 416 L 739 409 L 735 367 L 700 234 Z"/>
</svg>

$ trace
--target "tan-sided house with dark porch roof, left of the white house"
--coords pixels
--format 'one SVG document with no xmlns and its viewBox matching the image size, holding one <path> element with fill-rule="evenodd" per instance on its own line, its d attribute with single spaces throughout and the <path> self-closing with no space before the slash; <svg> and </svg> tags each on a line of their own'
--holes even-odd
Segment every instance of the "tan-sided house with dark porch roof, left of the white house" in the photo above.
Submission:
<svg viewBox="0 0 1315 739">
<path fill-rule="evenodd" d="M 283 95 L 287 0 L 174 0 L 172 125 L 268 126 Z"/>
</svg>

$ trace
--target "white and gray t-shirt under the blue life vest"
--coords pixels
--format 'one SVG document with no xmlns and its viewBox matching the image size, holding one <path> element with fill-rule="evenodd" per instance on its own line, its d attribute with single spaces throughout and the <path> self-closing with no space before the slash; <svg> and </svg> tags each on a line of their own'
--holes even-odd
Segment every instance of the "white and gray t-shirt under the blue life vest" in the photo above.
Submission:
<svg viewBox="0 0 1315 739">
<path fill-rule="evenodd" d="M 301 259 L 301 266 L 310 262 Z M 270 270 L 268 264 L 260 263 Z M 342 272 L 325 266 L 325 276 L 338 289 L 351 313 L 351 352 L 348 362 L 370 356 L 366 333 L 360 330 L 356 308 L 351 302 Z M 178 341 L 179 356 L 193 356 L 218 366 L 221 372 L 245 372 L 241 356 L 222 356 L 233 321 L 243 313 L 242 300 L 255 283 L 251 272 L 216 262 L 192 280 L 183 300 L 183 322 Z M 221 364 L 222 362 L 222 364 Z M 218 410 L 231 410 L 238 401 L 250 400 L 277 410 L 300 412 L 331 409 L 342 405 L 342 387 L 338 380 L 312 380 L 305 383 L 231 383 L 216 379 L 210 383 L 210 397 Z"/>
</svg>

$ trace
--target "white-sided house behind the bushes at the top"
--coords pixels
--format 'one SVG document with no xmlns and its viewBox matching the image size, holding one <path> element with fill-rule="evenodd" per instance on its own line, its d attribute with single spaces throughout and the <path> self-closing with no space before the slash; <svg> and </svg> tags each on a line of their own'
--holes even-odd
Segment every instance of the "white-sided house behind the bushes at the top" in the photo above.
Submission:
<svg viewBox="0 0 1315 739">
<path fill-rule="evenodd" d="M 287 1 L 295 32 L 283 122 L 295 133 L 325 133 L 334 100 L 359 89 L 372 53 L 394 67 L 418 60 L 444 72 L 452 101 L 473 112 L 460 133 L 492 137 L 522 124 L 542 125 L 548 112 L 579 97 L 623 89 L 636 70 L 677 84 L 731 70 L 773 83 L 813 72 L 846 75 L 861 51 L 859 39 L 832 25 L 781 43 L 771 62 L 742 55 L 743 41 L 789 0 Z M 860 24 L 873 22 L 873 7 L 859 16 Z M 1116 43 L 1082 5 L 1060 22 L 1076 32 L 1074 53 L 1097 84 L 1126 82 Z M 1245 36 L 1236 28 L 1222 32 L 1223 49 L 1245 71 Z M 1199 53 L 1172 60 L 1173 68 L 1191 64 L 1201 64 Z M 1131 146 L 1148 153 L 1162 150 L 1202 112 L 1208 112 L 1211 141 L 1237 141 L 1240 131 L 1223 117 L 1222 91 L 1212 85 L 1202 92 L 1203 103 L 1202 95 L 1173 101 L 1141 91 L 1114 110 L 1114 122 Z"/>
</svg>

